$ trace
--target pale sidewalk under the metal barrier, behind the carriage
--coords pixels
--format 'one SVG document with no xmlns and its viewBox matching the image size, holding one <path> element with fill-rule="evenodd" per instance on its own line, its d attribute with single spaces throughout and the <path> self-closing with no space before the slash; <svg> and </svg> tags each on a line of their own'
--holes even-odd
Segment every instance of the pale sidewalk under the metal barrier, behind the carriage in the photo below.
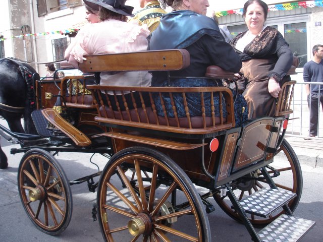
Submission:
<svg viewBox="0 0 323 242">
<path fill-rule="evenodd" d="M 323 141 L 318 139 L 304 140 L 300 137 L 285 135 L 293 147 L 299 162 L 311 167 L 323 167 Z"/>
</svg>

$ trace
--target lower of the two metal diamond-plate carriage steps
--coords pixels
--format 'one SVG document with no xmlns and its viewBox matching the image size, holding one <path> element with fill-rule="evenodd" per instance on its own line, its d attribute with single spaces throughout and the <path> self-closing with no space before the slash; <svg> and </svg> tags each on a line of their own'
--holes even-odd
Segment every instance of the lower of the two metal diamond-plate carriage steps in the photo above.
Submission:
<svg viewBox="0 0 323 242">
<path fill-rule="evenodd" d="M 314 225 L 314 221 L 282 214 L 257 234 L 261 242 L 296 242 Z"/>
</svg>

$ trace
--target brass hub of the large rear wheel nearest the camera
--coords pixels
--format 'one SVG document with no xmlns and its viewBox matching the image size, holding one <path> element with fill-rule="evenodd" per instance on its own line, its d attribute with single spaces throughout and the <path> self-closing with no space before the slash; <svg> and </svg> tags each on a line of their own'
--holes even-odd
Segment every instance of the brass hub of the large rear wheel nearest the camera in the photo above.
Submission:
<svg viewBox="0 0 323 242">
<path fill-rule="evenodd" d="M 140 213 L 128 222 L 128 230 L 132 236 L 150 234 L 152 231 L 152 219 L 146 213 Z"/>
</svg>

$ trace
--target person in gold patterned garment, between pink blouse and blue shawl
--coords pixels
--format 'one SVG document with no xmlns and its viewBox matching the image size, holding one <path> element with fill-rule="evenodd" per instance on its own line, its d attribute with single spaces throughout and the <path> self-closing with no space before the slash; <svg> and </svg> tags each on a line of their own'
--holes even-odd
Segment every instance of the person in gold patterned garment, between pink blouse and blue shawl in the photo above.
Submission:
<svg viewBox="0 0 323 242">
<path fill-rule="evenodd" d="M 160 18 L 167 12 L 160 7 L 157 0 L 139 0 L 139 3 L 142 9 L 136 12 L 132 19 L 138 20 L 139 25 L 147 24 L 152 33 L 158 27 Z"/>
</svg>

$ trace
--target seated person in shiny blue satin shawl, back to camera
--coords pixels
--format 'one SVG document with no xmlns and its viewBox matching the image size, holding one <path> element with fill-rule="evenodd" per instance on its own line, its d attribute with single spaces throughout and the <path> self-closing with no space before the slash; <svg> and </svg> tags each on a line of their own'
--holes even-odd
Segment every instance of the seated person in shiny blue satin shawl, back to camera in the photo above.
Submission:
<svg viewBox="0 0 323 242">
<path fill-rule="evenodd" d="M 170 83 L 167 73 L 152 72 L 152 86 L 178 86 L 178 87 L 210 87 L 223 86 L 222 82 L 207 79 L 206 68 L 216 65 L 222 69 L 237 73 L 241 68 L 241 60 L 235 50 L 228 44 L 216 24 L 206 17 L 206 10 L 209 7 L 207 0 L 163 0 L 164 3 L 173 8 L 173 12 L 164 15 L 159 27 L 152 33 L 149 49 L 161 50 L 172 48 L 183 48 L 190 53 L 190 66 L 181 71 L 170 73 Z M 188 78 L 189 77 L 189 78 Z M 186 95 L 191 116 L 201 115 L 201 100 L 199 94 Z M 236 126 L 241 125 L 247 119 L 247 108 L 245 99 L 237 94 L 234 105 Z M 210 95 L 204 96 L 205 114 L 211 116 Z M 164 102 L 169 116 L 174 115 L 170 98 L 164 97 Z M 174 95 L 177 103 L 179 117 L 186 116 L 182 96 Z M 219 95 L 214 95 L 214 104 L 219 105 Z M 163 116 L 163 109 L 158 97 L 155 98 L 158 115 Z M 220 116 L 219 108 L 215 110 L 216 116 Z M 226 115 L 224 105 L 223 113 Z"/>
</svg>

